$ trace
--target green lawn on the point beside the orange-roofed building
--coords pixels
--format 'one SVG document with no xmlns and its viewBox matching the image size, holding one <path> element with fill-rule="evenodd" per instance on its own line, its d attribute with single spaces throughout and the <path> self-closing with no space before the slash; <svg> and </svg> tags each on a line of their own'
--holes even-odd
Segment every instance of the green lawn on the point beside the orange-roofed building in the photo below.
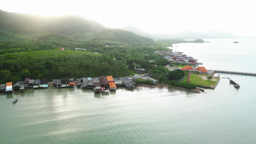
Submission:
<svg viewBox="0 0 256 144">
<path fill-rule="evenodd" d="M 184 80 L 182 82 L 187 82 L 187 79 L 188 79 L 188 75 L 185 75 Z M 207 75 L 197 75 L 197 74 L 190 75 L 190 83 L 199 85 L 199 86 L 214 88 L 218 80 L 219 80 L 219 77 L 212 77 L 211 80 L 208 80 Z"/>
</svg>

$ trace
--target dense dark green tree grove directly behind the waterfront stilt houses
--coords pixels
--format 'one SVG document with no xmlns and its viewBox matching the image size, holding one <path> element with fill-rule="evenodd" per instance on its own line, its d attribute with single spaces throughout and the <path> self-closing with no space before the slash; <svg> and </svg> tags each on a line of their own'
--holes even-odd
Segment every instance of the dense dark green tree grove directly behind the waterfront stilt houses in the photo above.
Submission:
<svg viewBox="0 0 256 144">
<path fill-rule="evenodd" d="M 60 50 L 7 53 L 0 56 L 0 69 L 0 82 L 130 74 L 124 62 L 106 55 Z"/>
</svg>

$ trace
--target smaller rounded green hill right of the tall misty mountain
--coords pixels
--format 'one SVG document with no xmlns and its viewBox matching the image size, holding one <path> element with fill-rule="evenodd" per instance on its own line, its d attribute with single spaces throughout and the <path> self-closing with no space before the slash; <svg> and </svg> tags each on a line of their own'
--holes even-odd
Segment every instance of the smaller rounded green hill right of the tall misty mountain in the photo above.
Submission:
<svg viewBox="0 0 256 144">
<path fill-rule="evenodd" d="M 104 29 L 95 34 L 93 40 L 119 41 L 126 44 L 154 45 L 154 40 L 123 29 Z"/>
</svg>

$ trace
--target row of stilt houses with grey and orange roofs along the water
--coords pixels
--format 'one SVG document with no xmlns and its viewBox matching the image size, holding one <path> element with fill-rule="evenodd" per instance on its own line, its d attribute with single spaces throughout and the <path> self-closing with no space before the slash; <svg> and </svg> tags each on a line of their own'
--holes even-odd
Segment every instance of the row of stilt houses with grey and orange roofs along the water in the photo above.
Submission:
<svg viewBox="0 0 256 144">
<path fill-rule="evenodd" d="M 144 80 L 152 80 L 156 83 L 155 79 L 147 76 L 147 74 L 143 75 L 133 75 L 133 76 L 126 76 L 126 77 L 119 77 L 113 78 L 113 76 L 100 76 L 100 77 L 82 77 L 80 79 L 74 80 L 73 78 L 70 79 L 60 79 L 60 80 L 53 80 L 53 86 L 57 88 L 62 87 L 77 87 L 82 88 L 91 88 L 94 92 L 102 92 L 108 93 L 109 90 L 116 90 L 117 87 L 126 86 L 128 89 L 135 88 L 136 83 L 134 82 L 136 79 L 144 79 Z M 12 92 L 13 89 L 17 89 L 20 92 L 24 92 L 25 88 L 48 88 L 49 87 L 49 80 L 46 78 L 43 79 L 30 79 L 26 78 L 24 81 L 19 81 L 13 85 L 12 82 L 7 82 L 5 84 L 0 84 L 0 91 L 2 92 Z"/>
</svg>

